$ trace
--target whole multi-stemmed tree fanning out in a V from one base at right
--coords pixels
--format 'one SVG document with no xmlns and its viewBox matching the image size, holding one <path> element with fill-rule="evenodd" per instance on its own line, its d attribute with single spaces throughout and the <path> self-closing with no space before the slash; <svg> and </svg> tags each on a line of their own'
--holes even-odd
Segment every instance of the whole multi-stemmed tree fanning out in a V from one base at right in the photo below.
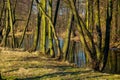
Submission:
<svg viewBox="0 0 120 80">
<path fill-rule="evenodd" d="M 108 1 L 107 6 L 107 18 L 106 18 L 106 34 L 105 34 L 105 44 L 104 44 L 104 51 L 101 51 L 101 34 L 100 34 L 100 14 L 99 14 L 99 2 L 97 1 L 97 15 L 96 15 L 96 26 L 98 28 L 98 45 L 95 45 L 92 33 L 88 30 L 87 25 L 82 20 L 82 18 L 78 15 L 76 6 L 74 4 L 74 0 L 68 0 L 69 7 L 71 8 L 75 20 L 77 21 L 77 29 L 80 33 L 80 41 L 85 47 L 85 50 L 87 51 L 87 56 L 91 64 L 91 68 L 94 70 L 100 71 L 105 68 L 107 57 L 108 57 L 108 51 L 109 51 L 109 44 L 110 44 L 110 26 L 111 26 L 111 19 L 112 19 L 112 0 Z M 103 54 L 104 53 L 104 54 Z M 100 54 L 100 55 L 98 55 Z M 100 58 L 102 56 L 102 58 Z M 103 59 L 103 60 L 102 60 Z M 101 63 L 103 66 L 101 66 Z"/>
</svg>

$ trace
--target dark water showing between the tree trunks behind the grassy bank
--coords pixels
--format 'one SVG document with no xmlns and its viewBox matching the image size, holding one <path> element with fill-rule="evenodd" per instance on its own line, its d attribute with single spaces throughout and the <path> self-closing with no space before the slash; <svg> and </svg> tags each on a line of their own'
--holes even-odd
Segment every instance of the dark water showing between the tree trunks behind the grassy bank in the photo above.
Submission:
<svg viewBox="0 0 120 80">
<path fill-rule="evenodd" d="M 20 41 L 20 38 L 16 38 L 16 44 L 19 41 Z M 59 41 L 60 41 L 60 47 L 62 49 L 64 40 L 62 38 L 59 38 Z M 46 41 L 46 43 L 48 43 L 48 41 Z M 10 44 L 11 44 L 11 40 L 8 40 L 8 45 Z M 25 50 L 28 50 L 32 47 L 32 45 L 33 45 L 33 35 L 26 35 L 22 44 L 22 48 L 24 48 Z M 38 43 L 37 49 L 39 49 L 39 43 Z M 54 50 L 55 50 L 55 47 L 54 47 Z M 79 67 L 85 67 L 86 59 L 84 54 L 84 48 L 82 47 L 80 42 L 71 41 L 68 53 L 69 54 L 67 55 L 67 60 L 69 62 L 75 63 Z M 112 73 L 120 73 L 120 53 L 119 52 L 110 50 L 105 71 L 112 72 Z"/>
</svg>

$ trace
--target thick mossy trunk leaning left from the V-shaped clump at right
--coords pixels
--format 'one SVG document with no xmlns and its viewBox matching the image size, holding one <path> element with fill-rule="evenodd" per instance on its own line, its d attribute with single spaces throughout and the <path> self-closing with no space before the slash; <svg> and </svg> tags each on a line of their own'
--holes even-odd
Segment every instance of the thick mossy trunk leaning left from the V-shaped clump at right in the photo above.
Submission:
<svg viewBox="0 0 120 80">
<path fill-rule="evenodd" d="M 72 12 L 75 16 L 75 20 L 77 21 L 77 29 L 80 33 L 80 40 L 81 43 L 83 44 L 83 46 L 86 48 L 86 50 L 88 51 L 88 58 L 89 61 L 93 64 L 97 64 L 97 56 L 95 54 L 95 51 L 92 51 L 92 49 L 95 50 L 95 46 L 92 45 L 93 44 L 93 39 L 92 36 L 90 34 L 90 32 L 88 31 L 88 29 L 86 28 L 86 25 L 84 24 L 84 22 L 82 21 L 81 17 L 79 17 L 77 9 L 75 7 L 74 1 L 73 0 L 69 0 L 70 3 L 70 7 L 72 9 Z M 84 34 L 85 33 L 85 34 Z M 89 43 L 87 43 L 89 41 Z M 95 66 L 94 66 L 95 68 Z"/>
</svg>

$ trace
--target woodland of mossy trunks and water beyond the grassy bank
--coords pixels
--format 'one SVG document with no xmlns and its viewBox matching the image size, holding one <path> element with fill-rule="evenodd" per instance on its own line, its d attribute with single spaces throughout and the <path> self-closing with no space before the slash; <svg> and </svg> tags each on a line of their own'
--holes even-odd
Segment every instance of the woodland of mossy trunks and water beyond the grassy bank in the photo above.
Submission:
<svg viewBox="0 0 120 80">
<path fill-rule="evenodd" d="M 120 0 L 0 0 L 0 47 L 120 73 L 119 23 Z"/>
</svg>

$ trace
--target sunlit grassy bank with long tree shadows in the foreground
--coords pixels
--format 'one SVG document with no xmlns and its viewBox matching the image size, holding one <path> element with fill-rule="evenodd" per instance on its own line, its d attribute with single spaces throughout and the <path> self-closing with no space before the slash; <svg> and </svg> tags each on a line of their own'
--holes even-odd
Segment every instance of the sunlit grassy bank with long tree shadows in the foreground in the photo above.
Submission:
<svg viewBox="0 0 120 80">
<path fill-rule="evenodd" d="M 120 80 L 119 74 L 78 68 L 23 50 L 0 48 L 0 72 L 7 80 Z"/>
</svg>

